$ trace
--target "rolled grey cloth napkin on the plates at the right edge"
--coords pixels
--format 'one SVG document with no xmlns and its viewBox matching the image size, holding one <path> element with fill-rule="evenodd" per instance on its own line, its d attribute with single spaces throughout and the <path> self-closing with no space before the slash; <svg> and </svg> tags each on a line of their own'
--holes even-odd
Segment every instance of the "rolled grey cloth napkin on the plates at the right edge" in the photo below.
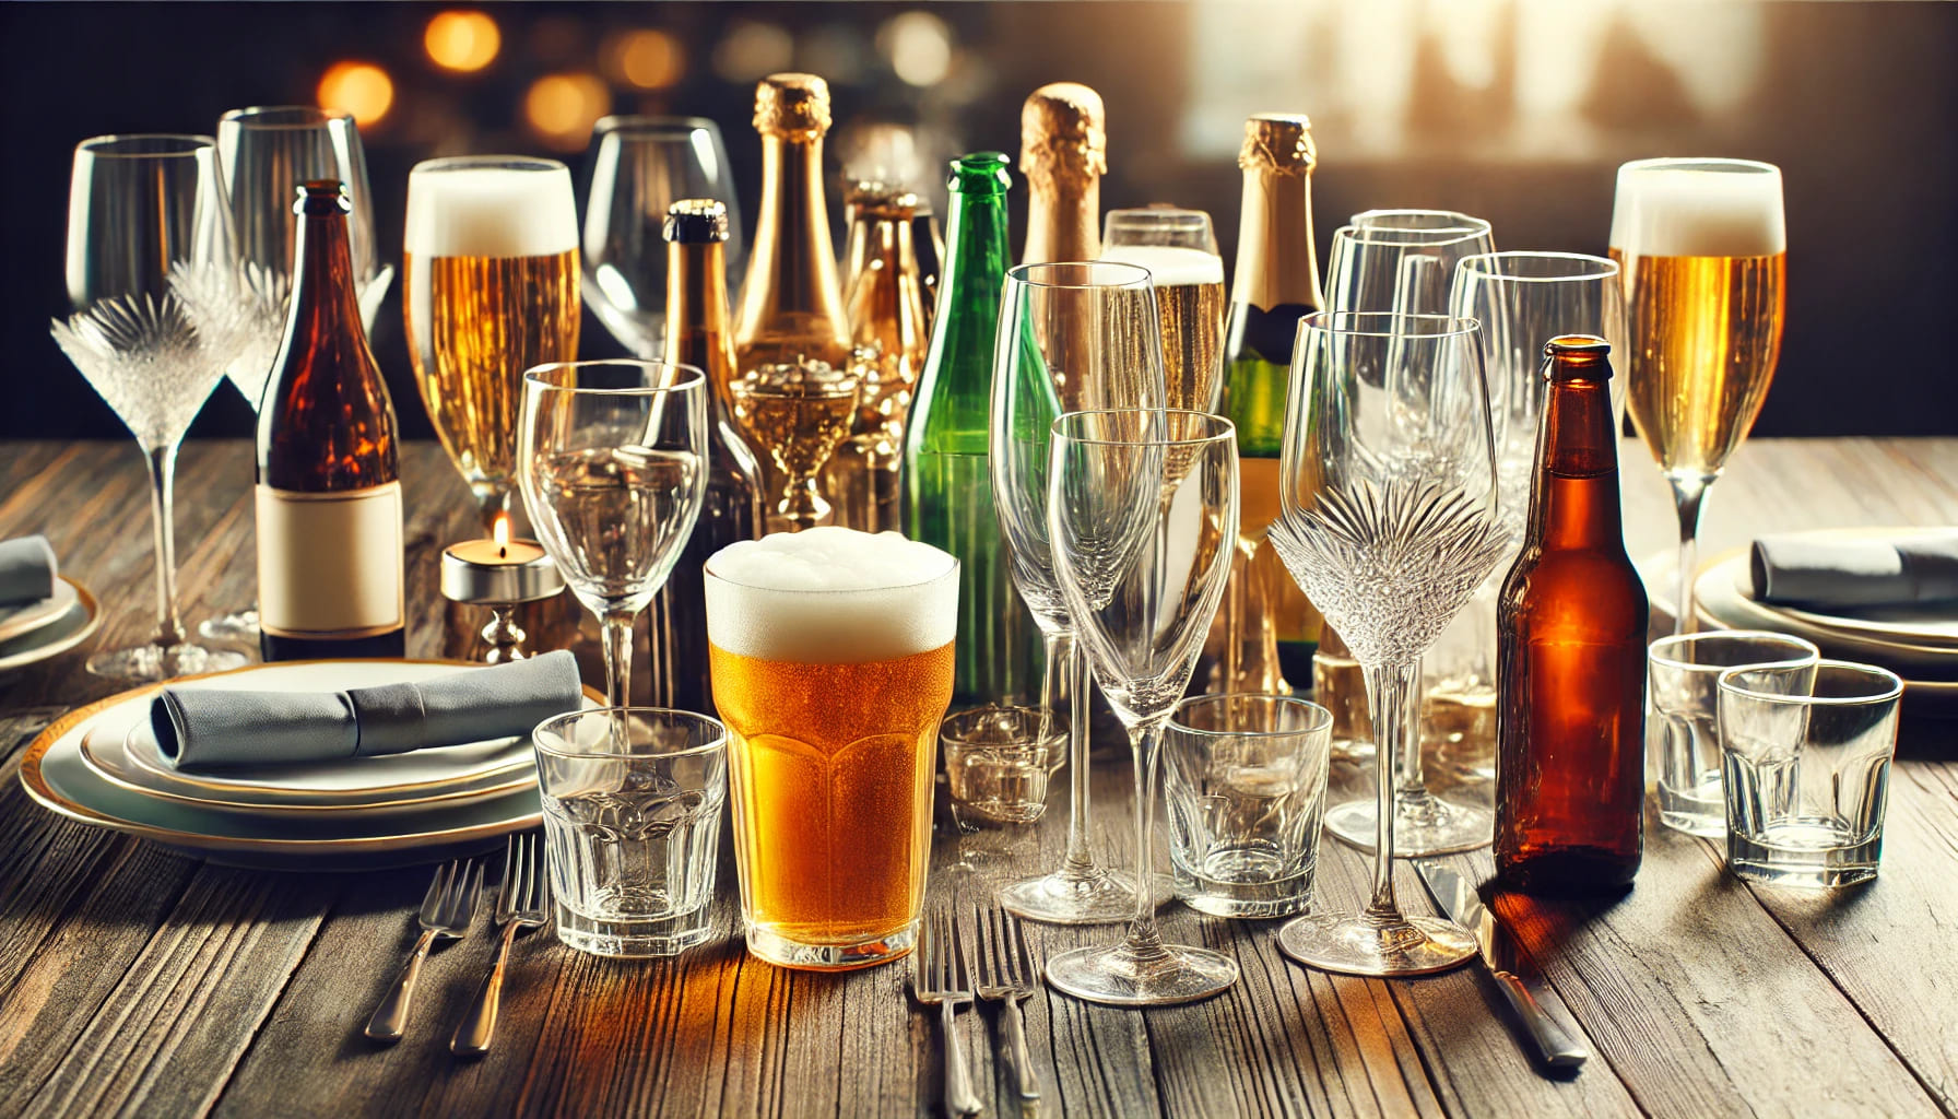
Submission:
<svg viewBox="0 0 1958 1119">
<path fill-rule="evenodd" d="M 1754 541 L 1754 598 L 1844 609 L 1958 600 L 1958 533 L 1852 541 L 1809 533 Z"/>
</svg>

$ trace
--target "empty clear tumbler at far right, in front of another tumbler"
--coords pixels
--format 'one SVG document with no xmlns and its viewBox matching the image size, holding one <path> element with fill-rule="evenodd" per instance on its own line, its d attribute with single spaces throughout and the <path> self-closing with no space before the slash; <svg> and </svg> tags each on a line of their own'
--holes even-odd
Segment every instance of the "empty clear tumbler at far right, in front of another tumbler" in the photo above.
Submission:
<svg viewBox="0 0 1958 1119">
<path fill-rule="evenodd" d="M 1876 878 L 1901 696 L 1895 672 L 1846 660 L 1721 672 L 1727 868 L 1774 886 Z"/>
</svg>

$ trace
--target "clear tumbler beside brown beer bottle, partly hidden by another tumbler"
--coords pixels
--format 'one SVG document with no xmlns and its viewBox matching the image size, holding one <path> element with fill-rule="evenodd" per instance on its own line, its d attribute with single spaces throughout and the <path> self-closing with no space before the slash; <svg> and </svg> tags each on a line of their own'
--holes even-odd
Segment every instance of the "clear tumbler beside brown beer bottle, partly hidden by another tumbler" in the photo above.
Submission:
<svg viewBox="0 0 1958 1119">
<path fill-rule="evenodd" d="M 1719 678 L 1741 666 L 1786 668 L 1807 688 L 1821 651 L 1786 633 L 1723 629 L 1660 637 L 1647 651 L 1647 749 L 1658 762 L 1658 821 L 1688 835 L 1727 835 L 1721 798 Z"/>
</svg>

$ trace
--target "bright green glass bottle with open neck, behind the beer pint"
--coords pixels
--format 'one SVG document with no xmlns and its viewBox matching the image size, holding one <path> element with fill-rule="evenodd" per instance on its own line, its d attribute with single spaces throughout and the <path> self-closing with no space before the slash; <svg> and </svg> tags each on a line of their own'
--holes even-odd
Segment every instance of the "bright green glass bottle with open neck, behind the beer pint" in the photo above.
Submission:
<svg viewBox="0 0 1958 1119">
<path fill-rule="evenodd" d="M 954 705 L 1024 702 L 1038 692 L 1042 670 L 1040 633 L 1012 588 L 987 466 L 1010 182 L 1004 153 L 952 161 L 944 282 L 905 433 L 907 531 L 959 559 Z"/>
</svg>

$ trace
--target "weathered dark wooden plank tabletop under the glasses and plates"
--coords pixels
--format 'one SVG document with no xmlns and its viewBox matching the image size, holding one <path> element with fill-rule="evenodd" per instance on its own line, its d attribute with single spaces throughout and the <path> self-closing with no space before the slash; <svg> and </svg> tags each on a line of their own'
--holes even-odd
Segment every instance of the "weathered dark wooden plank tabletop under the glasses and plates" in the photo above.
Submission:
<svg viewBox="0 0 1958 1119">
<path fill-rule="evenodd" d="M 253 598 L 251 455 L 184 451 L 178 557 L 190 619 Z M 1664 488 L 1627 445 L 1633 555 L 1672 541 Z M 411 651 L 439 653 L 435 551 L 474 535 L 435 445 L 409 447 Z M 1756 441 L 1715 488 L 1707 551 L 1764 527 L 1958 523 L 1958 441 Z M 127 443 L 0 443 L 0 537 L 45 531 L 108 619 L 151 627 L 149 510 Z M 454 631 L 454 619 L 446 619 Z M 493 937 L 439 950 L 407 1041 L 358 1027 L 411 943 L 427 870 L 303 876 L 200 864 L 33 805 L 20 749 L 117 686 L 86 651 L 0 680 L 0 1115 L 926 1115 L 936 1019 L 907 966 L 795 974 L 746 958 L 732 864 L 723 939 L 677 962 L 605 962 L 519 941 L 497 1048 L 446 1037 Z M 1286 962 L 1273 927 L 1167 907 L 1167 935 L 1230 952 L 1243 980 L 1147 1013 L 1048 994 L 1028 1003 L 1048 1115 L 1936 1115 L 1958 1113 L 1958 762 L 1913 723 L 1889 792 L 1882 878 L 1842 894 L 1752 888 L 1719 851 L 1647 821 L 1645 870 L 1617 901 L 1498 911 L 1596 1052 L 1537 1076 L 1474 968 L 1378 982 Z M 1095 776 L 1098 851 L 1130 860 L 1128 766 Z M 1486 788 L 1482 792 L 1486 796 Z M 940 817 L 932 894 L 977 896 L 1057 862 L 1065 794 L 1038 829 L 957 837 Z M 1486 874 L 1488 852 L 1463 856 Z M 1367 860 L 1328 841 L 1320 894 L 1353 905 Z M 1400 872 L 1414 911 L 1427 900 Z M 482 929 L 482 925 L 478 925 Z M 1106 941 L 1032 927 L 1038 950 Z M 961 1015 L 989 1111 L 1006 1082 L 991 1011 Z M 983 1025 L 981 1025 L 983 1023 Z M 985 1043 L 981 1041 L 985 1039 Z"/>
</svg>

